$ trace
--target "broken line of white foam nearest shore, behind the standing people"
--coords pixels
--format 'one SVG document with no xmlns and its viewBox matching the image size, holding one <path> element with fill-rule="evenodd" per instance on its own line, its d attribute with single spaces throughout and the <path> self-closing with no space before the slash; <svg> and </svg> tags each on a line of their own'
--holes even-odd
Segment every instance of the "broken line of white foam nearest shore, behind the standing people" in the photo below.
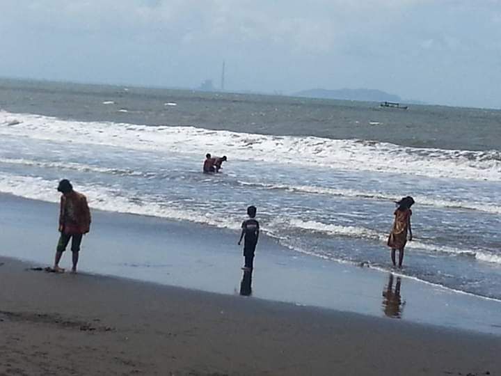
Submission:
<svg viewBox="0 0 501 376">
<path fill-rule="evenodd" d="M 14 194 L 24 198 L 34 200 L 58 202 L 58 194 L 55 188 L 57 180 L 47 180 L 39 177 L 11 175 L 0 173 L 0 191 L 3 193 Z M 152 201 L 152 198 L 141 196 L 138 192 L 122 192 L 119 189 L 105 188 L 100 185 L 80 185 L 81 189 L 88 197 L 89 205 L 96 209 L 107 210 L 110 212 L 121 212 L 129 214 L 140 214 L 152 217 L 173 219 L 177 221 L 191 221 L 198 224 L 216 226 L 218 228 L 228 228 L 239 230 L 241 217 L 226 215 L 221 216 L 218 213 L 205 212 L 200 210 L 191 210 L 186 207 L 176 207 L 173 203 Z M 278 227 L 282 228 L 277 230 Z M 385 242 L 388 234 L 379 233 L 377 230 L 364 228 L 362 226 L 340 226 L 336 224 L 324 224 L 317 221 L 303 221 L 301 219 L 290 219 L 287 223 L 271 222 L 265 226 L 265 231 L 269 235 L 277 237 L 275 233 L 283 233 L 283 228 L 293 230 L 307 231 L 310 233 L 324 233 L 333 237 L 351 237 L 356 239 L 366 239 L 376 242 Z M 285 245 L 287 245 L 287 239 Z M 292 249 L 302 251 L 298 244 L 289 244 Z M 457 256 L 467 256 L 487 263 L 501 264 L 501 256 L 495 255 L 489 251 L 457 249 L 450 246 L 431 244 L 414 240 L 407 243 L 407 248 L 426 251 L 428 253 L 451 253 Z M 308 251 L 309 252 L 309 251 Z M 333 256 L 319 252 L 310 253 L 313 256 L 332 259 Z"/>
</svg>

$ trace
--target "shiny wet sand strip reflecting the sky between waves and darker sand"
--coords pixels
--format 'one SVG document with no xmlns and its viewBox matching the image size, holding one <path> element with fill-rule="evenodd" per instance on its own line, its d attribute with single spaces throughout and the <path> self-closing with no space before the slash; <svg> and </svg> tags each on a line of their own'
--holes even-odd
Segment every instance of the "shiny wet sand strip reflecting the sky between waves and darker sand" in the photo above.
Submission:
<svg viewBox="0 0 501 376">
<path fill-rule="evenodd" d="M 0 219 L 0 255 L 36 266 L 51 265 L 57 240 L 57 205 L 8 194 L 0 194 L 0 200 L 4 217 L 10 219 Z M 26 228 L 30 229 L 29 237 Z M 79 267 L 95 276 L 237 295 L 243 263 L 237 237 L 232 230 L 93 210 L 93 227 L 82 242 Z M 70 263 L 69 253 L 63 256 L 63 267 Z M 391 295 L 397 281 L 398 296 Z M 390 296 L 395 297 L 390 308 L 385 298 L 388 285 Z M 252 300 L 282 301 L 376 318 L 386 315 L 501 336 L 499 301 L 374 268 L 326 263 L 292 252 L 267 236 L 260 239 L 252 295 Z"/>
</svg>

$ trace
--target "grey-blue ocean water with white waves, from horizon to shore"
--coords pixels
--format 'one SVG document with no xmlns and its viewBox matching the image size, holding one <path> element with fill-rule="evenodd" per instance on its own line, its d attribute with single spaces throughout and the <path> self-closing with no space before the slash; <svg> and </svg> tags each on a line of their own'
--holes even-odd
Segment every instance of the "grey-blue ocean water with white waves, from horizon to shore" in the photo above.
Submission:
<svg viewBox="0 0 501 376">
<path fill-rule="evenodd" d="M 395 203 L 415 198 L 401 274 L 501 299 L 501 111 L 0 81 L 0 191 L 263 230 L 324 263 L 390 270 Z M 223 172 L 201 173 L 206 152 Z"/>
</svg>

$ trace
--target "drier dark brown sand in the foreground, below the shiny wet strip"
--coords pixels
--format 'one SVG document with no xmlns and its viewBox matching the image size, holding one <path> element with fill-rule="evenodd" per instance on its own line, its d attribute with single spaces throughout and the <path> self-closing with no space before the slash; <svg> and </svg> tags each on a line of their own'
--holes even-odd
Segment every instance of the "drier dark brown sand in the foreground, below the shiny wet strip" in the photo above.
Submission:
<svg viewBox="0 0 501 376">
<path fill-rule="evenodd" d="M 0 375 L 500 375 L 499 337 L 0 263 Z"/>
</svg>

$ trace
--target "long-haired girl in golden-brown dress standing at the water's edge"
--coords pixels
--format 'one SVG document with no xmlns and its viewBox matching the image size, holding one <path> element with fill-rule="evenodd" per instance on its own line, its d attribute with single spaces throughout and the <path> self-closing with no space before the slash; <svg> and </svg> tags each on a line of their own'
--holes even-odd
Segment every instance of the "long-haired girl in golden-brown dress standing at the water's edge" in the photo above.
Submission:
<svg viewBox="0 0 501 376">
<path fill-rule="evenodd" d="M 404 248 L 407 243 L 407 232 L 409 234 L 408 240 L 412 240 L 412 229 L 411 229 L 411 206 L 414 203 L 414 199 L 411 196 L 406 196 L 400 201 L 395 201 L 397 205 L 397 210 L 395 210 L 395 221 L 393 222 L 393 227 L 388 237 L 388 246 L 392 249 L 392 263 L 393 266 L 397 266 L 395 263 L 395 250 L 399 250 L 399 267 L 402 265 L 404 260 Z"/>
</svg>

